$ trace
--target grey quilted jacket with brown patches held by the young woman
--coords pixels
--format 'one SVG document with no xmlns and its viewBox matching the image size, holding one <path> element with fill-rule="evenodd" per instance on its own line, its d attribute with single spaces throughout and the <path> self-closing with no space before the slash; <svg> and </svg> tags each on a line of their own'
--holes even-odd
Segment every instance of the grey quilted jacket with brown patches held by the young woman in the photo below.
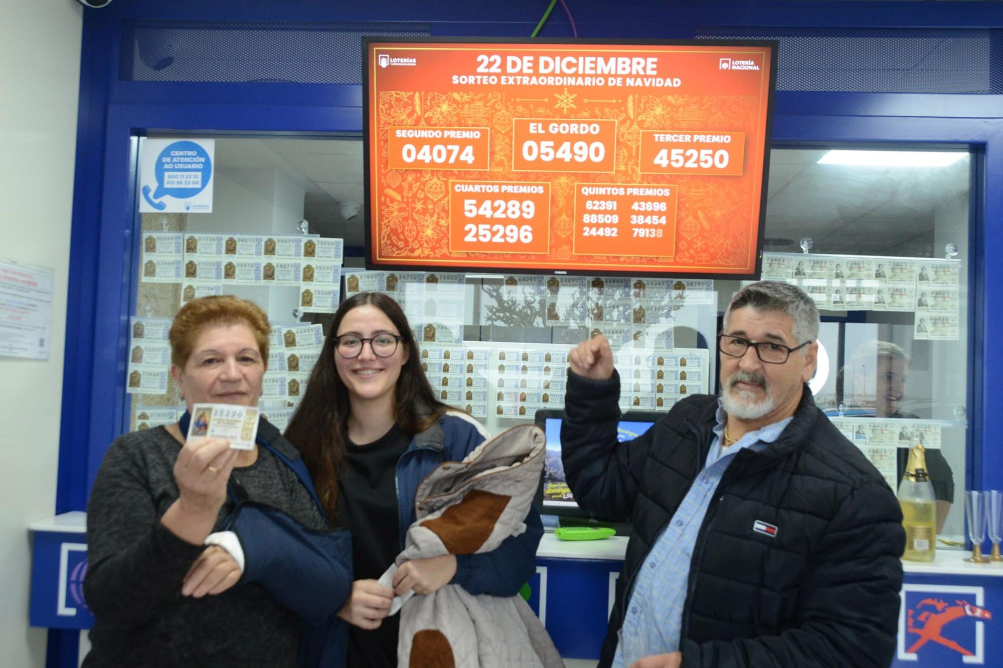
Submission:
<svg viewBox="0 0 1003 668">
<path fill-rule="evenodd" d="M 545 443 L 539 427 L 525 424 L 484 441 L 462 461 L 436 467 L 418 486 L 417 520 L 407 530 L 407 547 L 396 565 L 447 554 L 488 554 L 526 533 Z M 518 595 L 473 595 L 450 584 L 409 598 L 400 616 L 401 666 L 563 665 L 544 625 Z"/>
</svg>

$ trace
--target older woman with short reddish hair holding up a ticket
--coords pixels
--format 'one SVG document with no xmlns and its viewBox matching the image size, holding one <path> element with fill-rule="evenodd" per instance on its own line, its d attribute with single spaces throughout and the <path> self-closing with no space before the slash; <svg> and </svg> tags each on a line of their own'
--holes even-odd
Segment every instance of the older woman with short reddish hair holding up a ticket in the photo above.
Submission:
<svg viewBox="0 0 1003 668">
<path fill-rule="evenodd" d="M 335 613 L 351 548 L 328 531 L 298 450 L 264 419 L 251 450 L 186 438 L 196 403 L 257 405 L 270 331 L 233 296 L 175 318 L 172 375 L 189 410 L 116 438 L 91 491 L 85 666 L 343 664 Z"/>
</svg>

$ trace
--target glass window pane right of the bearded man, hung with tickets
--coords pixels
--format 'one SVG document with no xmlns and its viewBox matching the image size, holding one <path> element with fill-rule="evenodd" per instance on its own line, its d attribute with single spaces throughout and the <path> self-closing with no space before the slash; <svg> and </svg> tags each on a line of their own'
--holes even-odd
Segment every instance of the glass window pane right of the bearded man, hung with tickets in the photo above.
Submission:
<svg viewBox="0 0 1003 668">
<path fill-rule="evenodd" d="M 957 542 L 971 382 L 970 174 L 964 151 L 774 148 L 763 261 L 764 277 L 770 266 L 777 278 L 789 270 L 819 306 L 828 357 L 815 379 L 819 406 L 893 488 L 907 446 L 923 442 L 938 533 Z M 717 286 L 723 310 L 738 286 Z"/>
</svg>

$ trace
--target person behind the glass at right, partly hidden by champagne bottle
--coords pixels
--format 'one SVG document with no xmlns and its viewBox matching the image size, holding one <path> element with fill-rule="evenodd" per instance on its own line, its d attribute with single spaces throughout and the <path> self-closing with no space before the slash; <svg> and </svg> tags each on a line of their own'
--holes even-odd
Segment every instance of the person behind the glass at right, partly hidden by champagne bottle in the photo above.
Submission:
<svg viewBox="0 0 1003 668">
<path fill-rule="evenodd" d="M 854 351 L 843 376 L 843 395 L 852 409 L 863 411 L 859 414 L 893 419 L 920 419 L 914 413 L 901 408 L 906 397 L 906 378 L 912 360 L 906 351 L 888 341 L 866 341 Z M 839 394 L 838 394 L 839 396 Z M 872 408 L 873 407 L 873 408 Z M 856 412 L 856 411 L 855 411 Z M 902 444 L 915 445 L 917 435 L 910 433 L 905 425 L 899 430 Z M 898 448 L 898 482 L 906 471 L 909 448 Z M 937 496 L 937 531 L 940 532 L 947 520 L 947 514 L 954 503 L 954 472 L 940 448 L 927 449 L 927 471 Z"/>
</svg>

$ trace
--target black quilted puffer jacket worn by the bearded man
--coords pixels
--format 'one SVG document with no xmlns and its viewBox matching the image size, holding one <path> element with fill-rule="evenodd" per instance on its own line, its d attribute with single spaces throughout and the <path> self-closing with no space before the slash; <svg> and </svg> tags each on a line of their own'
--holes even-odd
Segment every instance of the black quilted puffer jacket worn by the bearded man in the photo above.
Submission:
<svg viewBox="0 0 1003 668">
<path fill-rule="evenodd" d="M 717 410 L 716 396 L 691 396 L 618 443 L 619 392 L 617 375 L 572 373 L 561 431 L 575 499 L 634 526 L 600 666 L 613 660 L 638 569 L 704 466 Z M 753 531 L 757 521 L 775 535 Z M 690 563 L 682 665 L 888 666 L 905 539 L 895 494 L 805 385 L 776 441 L 736 453 L 711 499 Z"/>
</svg>

